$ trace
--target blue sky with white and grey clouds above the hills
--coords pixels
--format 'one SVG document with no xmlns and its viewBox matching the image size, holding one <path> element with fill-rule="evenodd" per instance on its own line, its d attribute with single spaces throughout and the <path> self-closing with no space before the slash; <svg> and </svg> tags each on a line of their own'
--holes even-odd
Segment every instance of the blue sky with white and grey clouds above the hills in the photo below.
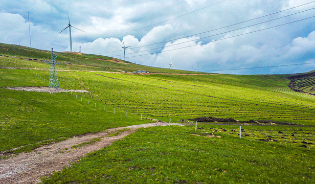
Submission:
<svg viewBox="0 0 315 184">
<path fill-rule="evenodd" d="M 69 29 L 58 35 L 67 10 L 84 31 L 71 29 L 74 52 L 81 45 L 82 53 L 124 59 L 124 40 L 127 61 L 155 67 L 171 59 L 173 69 L 211 73 L 315 70 L 312 0 L 1 0 L 0 42 L 30 47 L 29 12 L 32 48 L 70 51 Z M 265 67 L 278 65 L 286 66 Z"/>
</svg>

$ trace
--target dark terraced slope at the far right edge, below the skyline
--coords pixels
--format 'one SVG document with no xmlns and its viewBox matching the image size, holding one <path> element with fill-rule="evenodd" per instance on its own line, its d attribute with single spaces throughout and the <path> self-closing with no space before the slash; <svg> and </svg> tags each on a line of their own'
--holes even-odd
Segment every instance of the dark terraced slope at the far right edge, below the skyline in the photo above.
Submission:
<svg viewBox="0 0 315 184">
<path fill-rule="evenodd" d="M 297 92 L 315 95 L 315 71 L 287 77 L 291 80 L 289 87 Z"/>
</svg>

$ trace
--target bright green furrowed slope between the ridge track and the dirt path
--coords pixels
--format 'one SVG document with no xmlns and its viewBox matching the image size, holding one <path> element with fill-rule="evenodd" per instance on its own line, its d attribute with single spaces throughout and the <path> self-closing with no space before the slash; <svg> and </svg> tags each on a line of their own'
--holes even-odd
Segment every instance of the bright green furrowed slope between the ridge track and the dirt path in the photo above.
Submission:
<svg viewBox="0 0 315 184">
<path fill-rule="evenodd" d="M 0 73 L 0 87 L 48 86 L 43 79 L 49 78 L 49 71 L 1 69 Z M 91 93 L 0 88 L 1 151 L 149 122 L 140 121 L 141 113 L 144 118 L 166 122 L 212 116 L 313 125 L 315 119 L 315 98 L 290 91 L 285 87 L 288 80 L 281 76 L 136 76 L 75 71 L 59 72 L 58 76 L 60 87 Z"/>
</svg>

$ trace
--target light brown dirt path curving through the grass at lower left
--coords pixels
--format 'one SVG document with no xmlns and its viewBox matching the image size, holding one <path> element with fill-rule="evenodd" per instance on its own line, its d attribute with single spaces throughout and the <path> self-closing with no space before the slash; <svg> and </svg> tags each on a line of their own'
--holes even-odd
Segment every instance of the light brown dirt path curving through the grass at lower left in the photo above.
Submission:
<svg viewBox="0 0 315 184">
<path fill-rule="evenodd" d="M 114 141 L 136 132 L 138 128 L 166 125 L 169 124 L 150 123 L 112 128 L 105 132 L 75 136 L 72 139 L 39 147 L 32 152 L 20 153 L 17 156 L 2 159 L 0 160 L 0 183 L 40 182 L 41 177 L 51 176 L 54 171 L 61 171 L 65 167 L 70 167 L 72 162 L 79 160 L 79 157 L 84 156 L 86 153 L 102 149 L 105 146 L 110 146 Z M 176 123 L 172 123 L 171 125 L 182 126 Z M 123 131 L 117 136 L 106 137 L 124 128 L 128 128 L 128 130 Z M 95 138 L 100 138 L 101 141 L 75 149 L 72 148 L 72 146 L 90 142 Z"/>
</svg>

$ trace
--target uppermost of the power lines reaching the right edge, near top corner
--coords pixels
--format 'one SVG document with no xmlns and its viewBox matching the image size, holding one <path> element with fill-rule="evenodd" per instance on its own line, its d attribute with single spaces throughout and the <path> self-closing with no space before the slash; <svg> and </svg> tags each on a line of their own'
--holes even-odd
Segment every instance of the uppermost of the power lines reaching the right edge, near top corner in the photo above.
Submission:
<svg viewBox="0 0 315 184">
<path fill-rule="evenodd" d="M 166 40 L 166 41 L 161 41 L 161 42 L 157 42 L 157 43 L 151 43 L 151 44 L 142 45 L 142 46 L 139 46 L 139 47 L 133 47 L 133 49 L 142 48 L 142 47 L 147 47 L 147 46 L 151 46 L 151 45 L 155 45 L 155 44 L 160 44 L 160 43 L 166 43 L 166 42 L 170 42 L 170 41 L 175 41 L 175 40 L 177 40 L 177 39 L 182 39 L 182 38 L 192 37 L 192 36 L 196 36 L 196 35 L 199 35 L 199 34 L 204 34 L 204 33 L 212 32 L 212 31 L 217 31 L 217 30 L 220 30 L 220 29 L 223 29 L 223 28 L 228 28 L 228 27 L 236 26 L 236 25 L 239 25 L 239 24 L 243 24 L 243 23 L 245 23 L 245 22 L 249 22 L 249 21 L 252 21 L 252 20 L 256 20 L 256 19 L 259 19 L 259 18 L 263 18 L 263 17 L 266 17 L 266 16 L 274 15 L 274 14 L 281 13 L 281 12 L 284 12 L 284 11 L 287 11 L 287 10 L 291 10 L 291 9 L 294 9 L 294 8 L 298 8 L 298 7 L 301 7 L 301 6 L 305 6 L 305 5 L 314 3 L 314 2 L 315 2 L 315 1 L 312 1 L 312 2 L 303 4 L 303 5 L 299 5 L 299 6 L 296 6 L 296 7 L 288 8 L 288 9 L 281 10 L 281 11 L 278 11 L 278 12 L 274 12 L 274 13 L 271 13 L 271 14 L 267 14 L 267 15 L 263 15 L 263 16 L 260 16 L 260 17 L 256 17 L 256 18 L 253 18 L 253 19 L 244 20 L 244 21 L 241 21 L 241 22 L 238 22 L 238 23 L 236 23 L 236 24 L 229 25 L 229 26 L 224 26 L 224 27 L 220 27 L 220 28 L 217 28 L 217 29 L 213 29 L 213 30 L 209 30 L 209 31 L 201 32 L 201 33 L 192 34 L 192 35 L 189 35 L 189 36 L 179 37 L 179 38 L 175 38 L 175 39 L 171 39 L 171 40 Z M 306 10 L 306 11 L 308 11 L 308 10 Z M 303 11 L 303 12 L 304 12 L 304 11 Z M 292 15 L 292 14 L 291 14 L 291 15 Z M 281 17 L 280 17 L 280 18 L 281 18 Z M 201 38 L 200 38 L 200 39 L 201 39 Z M 159 49 L 160 49 L 160 48 L 159 48 Z M 107 51 L 107 52 L 102 52 L 102 53 L 97 53 L 97 54 L 105 54 L 105 53 L 112 53 L 112 52 L 119 52 L 119 51 L 121 51 L 121 50 Z"/>
</svg>

